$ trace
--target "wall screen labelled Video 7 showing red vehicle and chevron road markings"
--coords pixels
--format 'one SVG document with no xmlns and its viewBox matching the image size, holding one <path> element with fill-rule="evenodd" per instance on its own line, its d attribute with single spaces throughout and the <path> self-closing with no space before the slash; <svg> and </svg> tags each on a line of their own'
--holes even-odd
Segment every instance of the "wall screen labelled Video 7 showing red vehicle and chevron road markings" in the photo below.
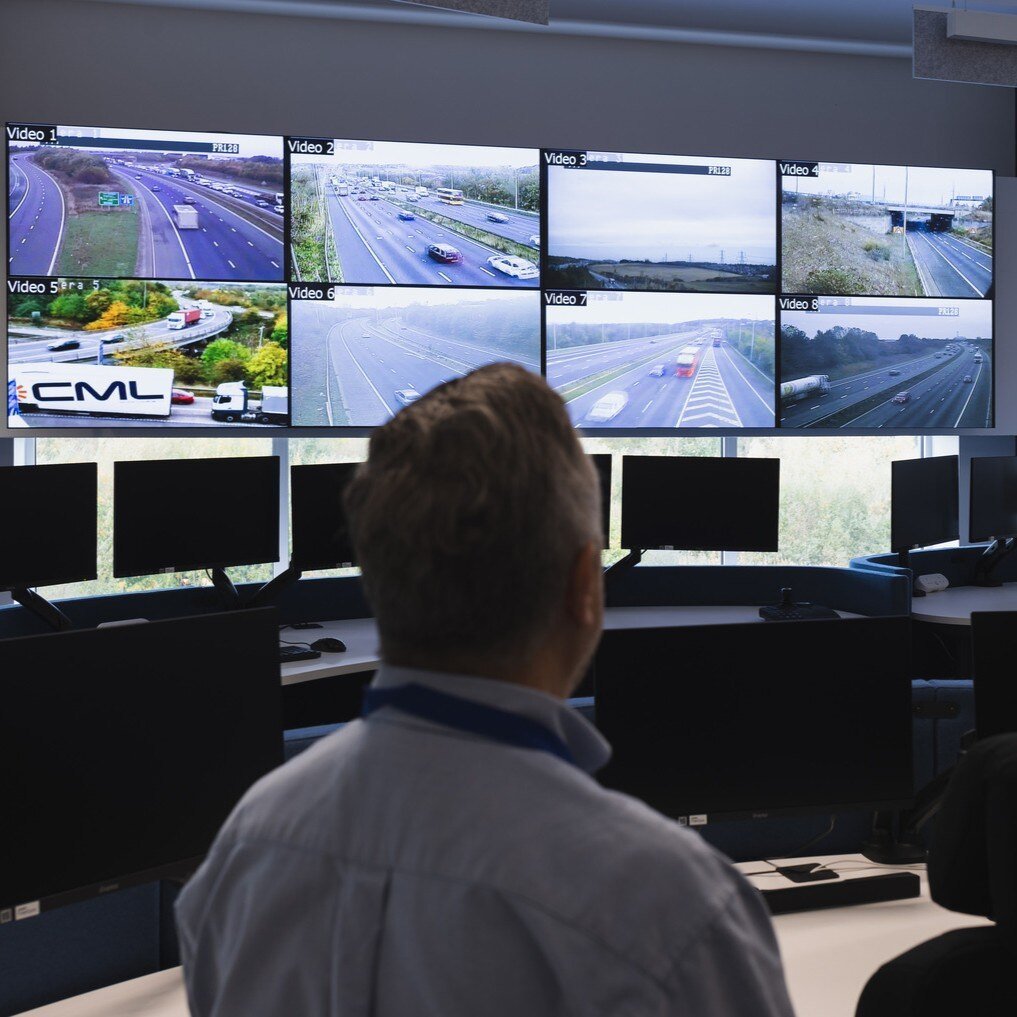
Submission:
<svg viewBox="0 0 1017 1017">
<path fill-rule="evenodd" d="M 584 428 L 773 427 L 774 300 L 544 293 L 548 383 Z"/>
</svg>

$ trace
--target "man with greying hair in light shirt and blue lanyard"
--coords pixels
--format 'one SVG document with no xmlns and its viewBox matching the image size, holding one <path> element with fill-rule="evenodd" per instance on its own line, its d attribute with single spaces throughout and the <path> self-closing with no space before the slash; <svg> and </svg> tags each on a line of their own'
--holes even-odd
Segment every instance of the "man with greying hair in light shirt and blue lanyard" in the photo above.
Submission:
<svg viewBox="0 0 1017 1017">
<path fill-rule="evenodd" d="M 259 781 L 177 905 L 194 1017 L 790 1017 L 756 893 L 600 787 L 564 699 L 603 616 L 598 489 L 507 364 L 374 431 L 347 491 L 383 664 Z"/>
</svg>

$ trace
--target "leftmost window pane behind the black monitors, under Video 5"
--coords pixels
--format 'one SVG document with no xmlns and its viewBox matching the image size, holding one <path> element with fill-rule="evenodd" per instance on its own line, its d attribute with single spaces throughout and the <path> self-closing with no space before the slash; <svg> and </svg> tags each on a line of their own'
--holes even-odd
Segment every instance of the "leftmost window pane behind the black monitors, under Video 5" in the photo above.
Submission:
<svg viewBox="0 0 1017 1017">
<path fill-rule="evenodd" d="M 28 439 L 31 440 L 31 439 Z M 213 459 L 226 456 L 271 456 L 272 438 L 110 438 L 58 437 L 36 438 L 36 463 L 99 464 L 99 578 L 93 583 L 71 583 L 43 587 L 48 599 L 97 597 L 113 593 L 138 593 L 142 590 L 178 586 L 211 585 L 203 573 L 172 573 L 167 576 L 137 576 L 116 579 L 113 576 L 113 464 L 118 460 L 139 459 Z M 31 459 L 28 460 L 31 462 Z M 256 496 L 256 492 L 252 492 Z M 194 493 L 194 512 L 181 526 L 229 526 L 230 516 L 243 512 L 243 498 L 230 498 L 221 504 L 202 492 Z M 157 535 L 153 534 L 153 539 Z M 264 582 L 272 579 L 271 564 L 231 569 L 235 583 Z"/>
</svg>

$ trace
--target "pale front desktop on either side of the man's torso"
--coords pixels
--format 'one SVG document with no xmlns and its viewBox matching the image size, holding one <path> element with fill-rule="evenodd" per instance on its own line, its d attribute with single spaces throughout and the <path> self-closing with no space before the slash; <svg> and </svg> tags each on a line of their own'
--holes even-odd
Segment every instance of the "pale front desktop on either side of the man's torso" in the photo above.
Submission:
<svg viewBox="0 0 1017 1017">
<path fill-rule="evenodd" d="M 859 855 L 815 860 L 831 862 L 845 874 L 848 869 L 857 875 L 888 871 L 870 865 Z M 755 861 L 739 868 L 755 872 L 765 865 Z M 754 882 L 786 885 L 781 876 L 758 877 Z M 978 924 L 985 922 L 934 904 L 923 878 L 921 896 L 912 900 L 802 911 L 774 919 L 797 1017 L 853 1017 L 862 988 L 881 965 L 941 933 Z M 178 967 L 29 1013 L 32 1017 L 188 1017 Z"/>
</svg>

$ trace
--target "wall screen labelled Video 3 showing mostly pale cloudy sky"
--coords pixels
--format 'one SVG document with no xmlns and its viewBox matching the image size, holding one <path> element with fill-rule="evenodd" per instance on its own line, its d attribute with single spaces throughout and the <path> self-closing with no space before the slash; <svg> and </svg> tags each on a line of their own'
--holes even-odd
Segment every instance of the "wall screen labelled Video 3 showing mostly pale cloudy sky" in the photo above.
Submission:
<svg viewBox="0 0 1017 1017">
<path fill-rule="evenodd" d="M 544 287 L 775 293 L 773 163 L 544 151 Z"/>
</svg>

